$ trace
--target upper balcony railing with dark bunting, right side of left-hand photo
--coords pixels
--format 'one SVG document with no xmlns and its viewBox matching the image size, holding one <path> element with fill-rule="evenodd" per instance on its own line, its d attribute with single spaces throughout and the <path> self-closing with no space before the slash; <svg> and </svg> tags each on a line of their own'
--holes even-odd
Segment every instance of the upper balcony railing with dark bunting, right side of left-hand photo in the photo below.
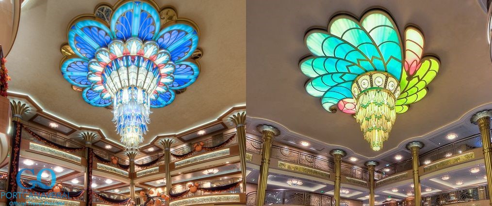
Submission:
<svg viewBox="0 0 492 206">
<path fill-rule="evenodd" d="M 207 150 L 205 150 L 205 149 L 202 149 L 201 151 L 196 151 L 194 149 L 194 147 L 193 147 L 195 144 L 203 143 L 203 146 L 202 147 L 215 147 L 215 146 L 218 146 L 221 143 L 227 141 L 229 138 L 231 138 L 235 134 L 236 133 L 234 132 L 234 133 L 224 134 L 224 135 L 219 136 L 219 137 L 212 137 L 210 139 L 206 139 L 206 140 L 199 141 L 199 142 L 194 142 L 194 143 L 191 143 L 191 144 L 185 144 L 183 147 L 179 147 L 177 149 L 172 150 L 171 153 L 173 153 L 175 155 L 183 155 L 183 154 L 187 154 L 187 153 L 191 152 L 189 155 L 190 156 L 195 156 L 195 155 L 198 155 L 198 154 L 207 152 Z M 238 139 L 237 137 L 232 138 L 231 141 L 229 141 L 223 147 L 231 147 L 231 146 L 237 145 L 238 144 L 237 139 Z M 161 152 L 161 153 L 158 153 L 158 154 L 156 154 L 154 156 L 151 156 L 151 157 L 147 157 L 145 159 L 138 160 L 135 163 L 136 164 L 145 164 L 145 163 L 148 163 L 148 162 L 152 162 L 155 159 L 157 159 L 160 156 L 162 156 L 162 154 L 163 153 Z M 174 161 L 177 161 L 177 160 L 180 160 L 180 159 L 182 159 L 182 158 L 177 158 L 177 157 L 171 155 L 171 162 L 174 162 Z M 164 159 L 161 159 L 157 164 L 160 165 L 160 164 L 163 164 L 163 163 L 164 163 Z M 140 169 L 136 169 L 135 171 L 139 171 L 139 170 Z"/>
</svg>

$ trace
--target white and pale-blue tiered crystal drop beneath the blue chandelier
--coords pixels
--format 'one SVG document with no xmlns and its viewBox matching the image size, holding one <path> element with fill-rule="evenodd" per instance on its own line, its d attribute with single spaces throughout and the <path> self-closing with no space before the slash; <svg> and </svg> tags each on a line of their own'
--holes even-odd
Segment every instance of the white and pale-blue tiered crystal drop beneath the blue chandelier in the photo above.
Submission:
<svg viewBox="0 0 492 206">
<path fill-rule="evenodd" d="M 126 148 L 138 148 L 150 123 L 150 97 L 144 89 L 120 89 L 113 101 L 113 122 Z"/>
</svg>

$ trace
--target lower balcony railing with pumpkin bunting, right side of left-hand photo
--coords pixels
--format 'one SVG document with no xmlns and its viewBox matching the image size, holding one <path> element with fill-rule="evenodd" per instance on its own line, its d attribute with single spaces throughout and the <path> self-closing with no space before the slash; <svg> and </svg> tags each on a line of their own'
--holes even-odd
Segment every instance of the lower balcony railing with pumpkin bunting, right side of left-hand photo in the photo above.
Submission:
<svg viewBox="0 0 492 206">
<path fill-rule="evenodd" d="M 240 182 L 241 178 L 220 178 L 220 179 L 208 179 L 208 180 L 203 180 L 199 182 L 193 182 L 193 183 L 198 183 L 200 188 L 210 188 L 210 187 L 218 187 L 218 186 L 224 186 L 224 185 L 230 185 L 234 184 L 237 182 Z M 223 194 L 223 193 L 242 193 L 242 184 L 238 184 L 230 189 L 227 190 L 221 190 L 221 191 L 203 191 L 203 190 L 197 190 L 196 192 L 187 192 L 183 196 L 179 197 L 180 198 L 187 198 L 187 197 L 195 197 L 195 196 L 203 196 L 203 195 L 210 195 L 210 194 Z M 187 184 L 182 184 L 182 185 L 176 185 L 173 188 L 171 188 L 171 194 L 179 194 L 182 192 L 185 192 L 186 190 L 190 190 Z"/>
</svg>

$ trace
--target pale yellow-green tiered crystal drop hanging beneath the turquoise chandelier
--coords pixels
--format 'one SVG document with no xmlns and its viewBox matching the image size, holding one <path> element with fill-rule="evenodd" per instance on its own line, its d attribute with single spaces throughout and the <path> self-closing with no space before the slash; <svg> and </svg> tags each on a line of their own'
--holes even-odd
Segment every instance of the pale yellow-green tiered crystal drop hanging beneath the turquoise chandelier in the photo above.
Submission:
<svg viewBox="0 0 492 206">
<path fill-rule="evenodd" d="M 375 151 L 380 150 L 395 123 L 394 95 L 385 89 L 371 89 L 361 93 L 355 117 L 370 147 Z"/>
</svg>

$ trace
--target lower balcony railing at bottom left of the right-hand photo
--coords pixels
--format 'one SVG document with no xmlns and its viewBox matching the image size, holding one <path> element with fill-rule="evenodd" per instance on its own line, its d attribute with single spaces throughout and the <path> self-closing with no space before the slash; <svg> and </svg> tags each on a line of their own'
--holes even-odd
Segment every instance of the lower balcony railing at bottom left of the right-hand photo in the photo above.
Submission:
<svg viewBox="0 0 492 206">
<path fill-rule="evenodd" d="M 267 190 L 265 205 L 334 206 L 335 200 L 328 195 L 295 190 Z M 256 191 L 246 195 L 246 206 L 256 205 Z"/>
</svg>

